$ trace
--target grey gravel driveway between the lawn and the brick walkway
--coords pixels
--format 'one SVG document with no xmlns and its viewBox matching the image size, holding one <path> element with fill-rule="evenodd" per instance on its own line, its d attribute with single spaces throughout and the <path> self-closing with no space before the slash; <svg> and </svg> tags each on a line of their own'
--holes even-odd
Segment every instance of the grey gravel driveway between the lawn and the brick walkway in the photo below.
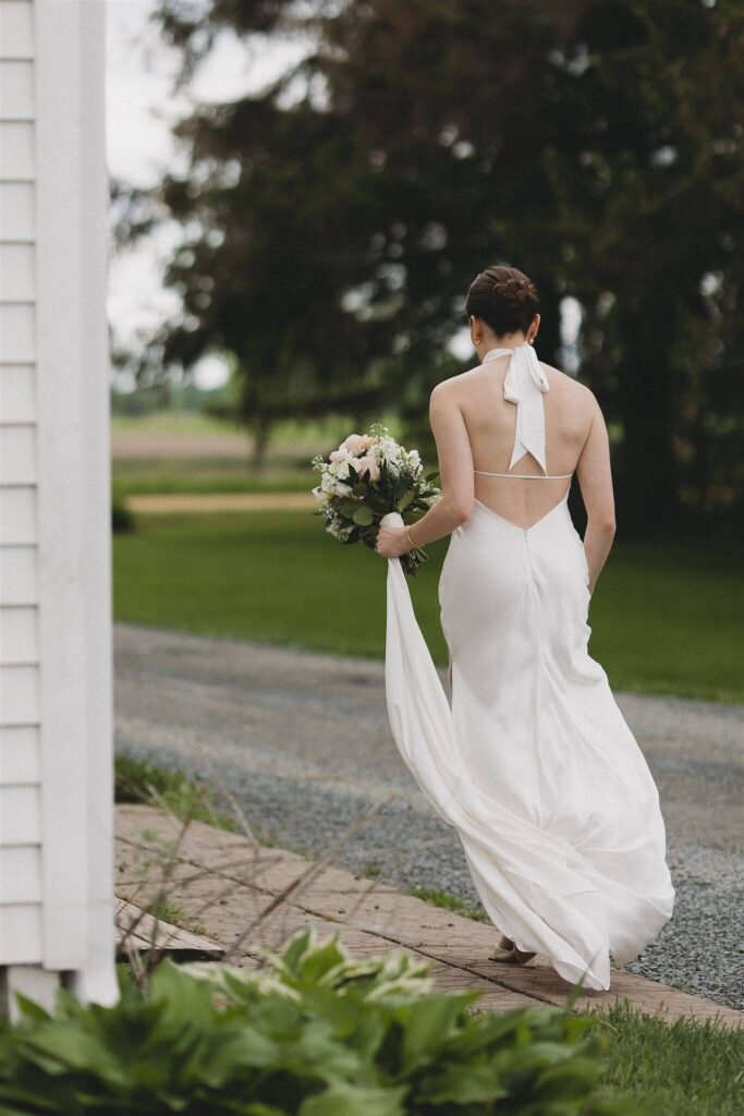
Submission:
<svg viewBox="0 0 744 1116">
<path fill-rule="evenodd" d="M 261 836 L 479 905 L 392 739 L 379 661 L 117 625 L 117 749 L 202 776 Z M 444 680 L 444 674 L 442 675 Z M 656 779 L 673 920 L 625 968 L 744 1009 L 744 708 L 617 694 Z"/>
</svg>

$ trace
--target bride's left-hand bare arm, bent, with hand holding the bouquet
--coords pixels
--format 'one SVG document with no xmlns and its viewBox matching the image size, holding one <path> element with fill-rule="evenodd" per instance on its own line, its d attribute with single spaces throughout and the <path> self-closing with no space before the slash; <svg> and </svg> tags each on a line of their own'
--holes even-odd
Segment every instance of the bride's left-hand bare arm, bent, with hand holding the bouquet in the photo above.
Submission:
<svg viewBox="0 0 744 1116">
<path fill-rule="evenodd" d="M 425 516 L 410 525 L 414 542 L 419 547 L 451 535 L 464 523 L 473 510 L 475 494 L 467 427 L 446 381 L 432 392 L 428 416 L 436 442 L 442 496 Z M 376 550 L 383 558 L 399 558 L 410 550 L 405 528 L 380 527 Z"/>
</svg>

